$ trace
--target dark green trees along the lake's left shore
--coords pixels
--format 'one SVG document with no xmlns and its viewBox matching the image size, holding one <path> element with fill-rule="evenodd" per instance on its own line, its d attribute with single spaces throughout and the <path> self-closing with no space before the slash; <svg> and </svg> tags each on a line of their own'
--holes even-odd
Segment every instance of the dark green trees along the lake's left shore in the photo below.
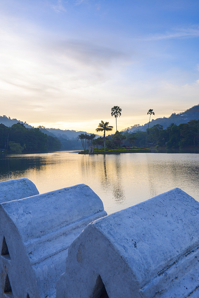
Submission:
<svg viewBox="0 0 199 298">
<path fill-rule="evenodd" d="M 0 124 L 0 148 L 10 152 L 54 151 L 61 148 L 60 141 L 42 133 L 39 128 L 26 128 L 22 123 L 7 127 Z"/>
</svg>

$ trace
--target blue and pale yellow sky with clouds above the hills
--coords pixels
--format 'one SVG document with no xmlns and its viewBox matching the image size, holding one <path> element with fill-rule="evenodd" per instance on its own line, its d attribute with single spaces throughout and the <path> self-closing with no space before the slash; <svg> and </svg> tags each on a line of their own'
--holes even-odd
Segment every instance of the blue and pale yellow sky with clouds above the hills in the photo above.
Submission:
<svg viewBox="0 0 199 298">
<path fill-rule="evenodd" d="M 199 103 L 198 0 L 1 0 L 0 115 L 95 133 Z M 175 111 L 178 113 L 178 111 Z"/>
</svg>

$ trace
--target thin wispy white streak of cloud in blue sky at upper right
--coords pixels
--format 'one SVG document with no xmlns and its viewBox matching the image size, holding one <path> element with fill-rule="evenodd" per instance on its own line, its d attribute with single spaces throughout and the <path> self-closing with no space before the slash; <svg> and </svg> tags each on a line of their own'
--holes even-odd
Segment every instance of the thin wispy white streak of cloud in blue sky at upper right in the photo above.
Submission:
<svg viewBox="0 0 199 298">
<path fill-rule="evenodd" d="M 172 38 L 193 38 L 199 37 L 199 27 L 195 28 L 182 28 L 174 29 L 172 32 L 166 32 L 164 34 L 149 35 L 144 38 L 145 41 L 172 39 Z"/>
</svg>

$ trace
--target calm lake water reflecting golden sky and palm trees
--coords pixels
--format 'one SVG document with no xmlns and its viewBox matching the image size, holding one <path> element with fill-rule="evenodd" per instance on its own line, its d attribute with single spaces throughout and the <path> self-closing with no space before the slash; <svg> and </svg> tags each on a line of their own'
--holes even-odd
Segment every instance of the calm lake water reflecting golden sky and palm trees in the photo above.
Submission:
<svg viewBox="0 0 199 298">
<path fill-rule="evenodd" d="M 199 201 L 199 155 L 74 151 L 0 156 L 0 181 L 26 177 L 40 193 L 85 183 L 108 214 L 179 187 Z"/>
</svg>

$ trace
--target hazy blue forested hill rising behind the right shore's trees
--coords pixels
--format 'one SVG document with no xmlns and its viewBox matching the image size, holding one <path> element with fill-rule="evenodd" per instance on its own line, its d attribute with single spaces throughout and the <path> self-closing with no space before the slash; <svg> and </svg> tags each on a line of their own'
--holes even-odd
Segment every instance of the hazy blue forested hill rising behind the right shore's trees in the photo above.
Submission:
<svg viewBox="0 0 199 298">
<path fill-rule="evenodd" d="M 176 111 L 177 112 L 177 111 Z M 181 113 L 173 113 L 170 117 L 163 117 L 163 118 L 157 118 L 152 119 L 150 122 L 150 126 L 160 124 L 163 125 L 163 129 L 166 129 L 171 123 L 174 123 L 176 125 L 179 125 L 181 123 L 187 123 L 190 120 L 198 120 L 199 119 L 199 104 L 194 105 L 192 108 L 189 108 L 188 110 L 181 112 Z M 136 132 L 136 131 L 146 131 L 148 128 L 148 123 L 145 123 L 144 125 L 135 124 L 128 128 L 122 129 L 122 131 L 128 131 L 128 132 Z"/>
</svg>

